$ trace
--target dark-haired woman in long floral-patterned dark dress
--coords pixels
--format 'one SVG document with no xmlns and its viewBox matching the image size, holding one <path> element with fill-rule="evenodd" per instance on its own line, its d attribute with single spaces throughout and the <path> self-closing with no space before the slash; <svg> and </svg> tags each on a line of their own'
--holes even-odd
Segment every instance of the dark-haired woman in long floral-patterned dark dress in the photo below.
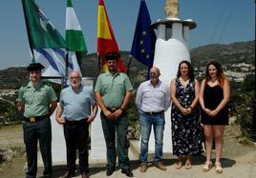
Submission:
<svg viewBox="0 0 256 178">
<path fill-rule="evenodd" d="M 203 136 L 200 129 L 199 82 L 188 61 L 181 61 L 177 78 L 171 81 L 172 98 L 172 141 L 173 153 L 178 156 L 176 168 L 191 168 L 191 155 L 203 152 Z"/>
</svg>

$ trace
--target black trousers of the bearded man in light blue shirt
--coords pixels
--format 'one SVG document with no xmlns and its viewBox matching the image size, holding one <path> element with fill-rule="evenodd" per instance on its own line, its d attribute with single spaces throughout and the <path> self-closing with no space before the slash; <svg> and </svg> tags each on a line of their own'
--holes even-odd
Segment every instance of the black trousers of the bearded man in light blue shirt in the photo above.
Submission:
<svg viewBox="0 0 256 178">
<path fill-rule="evenodd" d="M 80 172 L 88 172 L 88 127 L 85 119 L 64 125 L 67 148 L 67 171 L 75 172 L 76 148 L 78 148 Z"/>
</svg>

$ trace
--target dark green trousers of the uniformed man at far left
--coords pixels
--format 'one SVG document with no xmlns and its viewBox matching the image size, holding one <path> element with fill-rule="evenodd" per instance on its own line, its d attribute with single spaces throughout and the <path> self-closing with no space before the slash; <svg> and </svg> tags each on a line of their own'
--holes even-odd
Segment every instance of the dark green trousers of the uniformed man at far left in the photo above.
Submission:
<svg viewBox="0 0 256 178">
<path fill-rule="evenodd" d="M 35 178 L 37 170 L 37 144 L 44 162 L 44 175 L 52 174 L 52 128 L 49 117 L 38 122 L 24 122 L 24 143 L 26 145 L 28 171 L 27 178 Z"/>
</svg>

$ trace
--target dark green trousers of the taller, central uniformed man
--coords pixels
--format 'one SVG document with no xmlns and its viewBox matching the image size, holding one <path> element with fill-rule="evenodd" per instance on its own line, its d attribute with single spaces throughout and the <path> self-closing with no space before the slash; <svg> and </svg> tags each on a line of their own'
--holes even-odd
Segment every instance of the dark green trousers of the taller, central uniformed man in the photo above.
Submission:
<svg viewBox="0 0 256 178">
<path fill-rule="evenodd" d="M 120 168 L 129 168 L 128 158 L 128 123 L 126 114 L 123 113 L 117 119 L 106 119 L 104 114 L 100 113 L 101 125 L 107 146 L 108 168 L 116 167 L 118 155 L 118 163 Z M 117 151 L 116 151 L 116 130 L 117 130 Z"/>
</svg>

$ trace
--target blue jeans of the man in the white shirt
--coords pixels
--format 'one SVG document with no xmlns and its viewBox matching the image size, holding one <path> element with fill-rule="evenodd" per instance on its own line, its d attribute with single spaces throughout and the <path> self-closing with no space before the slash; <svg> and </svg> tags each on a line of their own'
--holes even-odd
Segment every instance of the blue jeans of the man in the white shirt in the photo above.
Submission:
<svg viewBox="0 0 256 178">
<path fill-rule="evenodd" d="M 159 114 L 146 114 L 141 111 L 140 113 L 140 130 L 141 130 L 141 142 L 140 142 L 140 162 L 147 163 L 148 153 L 148 141 L 153 126 L 155 135 L 155 158 L 154 163 L 158 164 L 162 157 L 162 138 L 164 130 L 164 112 Z"/>
</svg>

